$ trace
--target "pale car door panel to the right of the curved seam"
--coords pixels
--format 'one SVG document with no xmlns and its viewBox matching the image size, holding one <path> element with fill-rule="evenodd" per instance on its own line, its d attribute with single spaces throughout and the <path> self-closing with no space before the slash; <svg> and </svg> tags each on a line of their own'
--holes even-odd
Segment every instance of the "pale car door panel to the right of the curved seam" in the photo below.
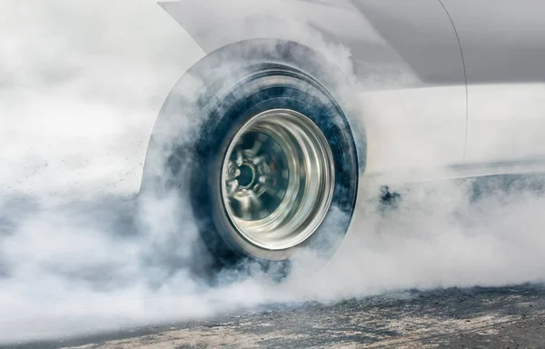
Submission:
<svg viewBox="0 0 545 349">
<path fill-rule="evenodd" d="M 545 2 L 442 2 L 460 35 L 467 71 L 464 163 L 545 169 Z"/>
</svg>

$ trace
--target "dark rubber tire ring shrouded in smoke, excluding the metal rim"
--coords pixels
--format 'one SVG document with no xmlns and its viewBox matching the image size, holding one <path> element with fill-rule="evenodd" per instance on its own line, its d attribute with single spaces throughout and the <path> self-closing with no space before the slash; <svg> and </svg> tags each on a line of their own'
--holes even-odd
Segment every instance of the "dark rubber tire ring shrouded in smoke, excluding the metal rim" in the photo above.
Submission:
<svg viewBox="0 0 545 349">
<path fill-rule="evenodd" d="M 164 103 L 141 191 L 174 191 L 190 204 L 203 243 L 223 266 L 252 260 L 267 270 L 286 270 L 286 263 L 302 249 L 328 260 L 347 233 L 360 174 L 358 152 L 352 127 L 328 91 L 338 83 L 326 73 L 329 66 L 295 43 L 255 40 L 229 45 L 193 65 Z M 275 108 L 312 119 L 328 139 L 335 168 L 332 205 L 322 224 L 301 245 L 283 251 L 264 250 L 235 232 L 224 214 L 220 183 L 223 156 L 233 135 L 253 115 Z M 150 164 L 163 165 L 163 172 L 148 169 Z"/>
</svg>

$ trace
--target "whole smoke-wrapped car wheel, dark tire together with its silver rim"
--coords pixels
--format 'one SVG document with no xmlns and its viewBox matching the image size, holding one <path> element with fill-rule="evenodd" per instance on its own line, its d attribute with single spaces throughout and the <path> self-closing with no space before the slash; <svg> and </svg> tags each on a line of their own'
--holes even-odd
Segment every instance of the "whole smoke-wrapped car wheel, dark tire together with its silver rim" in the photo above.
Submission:
<svg viewBox="0 0 545 349">
<path fill-rule="evenodd" d="M 190 206 L 223 267 L 252 261 L 285 272 L 302 251 L 331 258 L 352 220 L 360 170 L 330 66 L 275 40 L 205 56 L 163 105 L 141 193 L 175 193 Z"/>
</svg>

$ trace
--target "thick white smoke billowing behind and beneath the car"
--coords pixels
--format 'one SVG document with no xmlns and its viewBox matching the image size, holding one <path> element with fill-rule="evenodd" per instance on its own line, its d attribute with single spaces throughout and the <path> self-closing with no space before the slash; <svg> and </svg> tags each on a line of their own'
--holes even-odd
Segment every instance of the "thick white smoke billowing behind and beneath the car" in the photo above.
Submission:
<svg viewBox="0 0 545 349">
<path fill-rule="evenodd" d="M 203 52 L 144 0 L 7 1 L 0 33 L 0 343 L 545 274 L 542 181 L 520 177 L 394 188 L 397 209 L 362 184 L 351 233 L 320 273 L 282 284 L 226 273 L 211 286 L 193 223 L 176 229 L 189 207 L 144 200 L 144 233 L 133 215 L 157 112 Z"/>
</svg>

